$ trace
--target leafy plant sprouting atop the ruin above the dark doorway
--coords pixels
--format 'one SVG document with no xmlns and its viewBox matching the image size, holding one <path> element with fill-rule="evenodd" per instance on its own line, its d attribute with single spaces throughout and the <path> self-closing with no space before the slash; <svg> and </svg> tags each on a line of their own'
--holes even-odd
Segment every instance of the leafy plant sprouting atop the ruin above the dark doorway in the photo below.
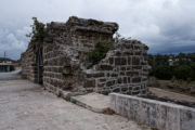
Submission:
<svg viewBox="0 0 195 130">
<path fill-rule="evenodd" d="M 30 37 L 32 42 L 43 42 L 46 37 L 44 27 L 46 25 L 37 20 L 37 17 L 32 17 L 34 25 L 31 25 L 31 32 L 26 35 Z"/>
</svg>

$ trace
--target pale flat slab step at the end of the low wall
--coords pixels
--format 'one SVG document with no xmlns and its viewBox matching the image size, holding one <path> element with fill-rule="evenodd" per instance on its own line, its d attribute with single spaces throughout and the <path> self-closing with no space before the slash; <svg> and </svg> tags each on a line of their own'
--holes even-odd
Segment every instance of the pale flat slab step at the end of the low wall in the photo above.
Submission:
<svg viewBox="0 0 195 130">
<path fill-rule="evenodd" d="M 70 102 L 95 113 L 104 113 L 109 109 L 109 96 L 94 92 L 86 95 L 70 96 Z"/>
</svg>

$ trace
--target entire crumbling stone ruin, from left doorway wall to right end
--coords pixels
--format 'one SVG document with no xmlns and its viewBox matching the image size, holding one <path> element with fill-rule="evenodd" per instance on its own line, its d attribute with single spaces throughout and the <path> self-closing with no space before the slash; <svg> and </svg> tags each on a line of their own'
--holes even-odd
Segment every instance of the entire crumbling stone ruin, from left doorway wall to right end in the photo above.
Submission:
<svg viewBox="0 0 195 130">
<path fill-rule="evenodd" d="M 69 17 L 47 25 L 42 43 L 29 43 L 22 54 L 23 76 L 53 92 L 62 90 L 145 94 L 147 47 L 136 40 L 119 40 L 106 57 L 88 69 L 95 44 L 113 41 L 116 23 Z M 41 44 L 41 46 L 40 46 Z"/>
</svg>

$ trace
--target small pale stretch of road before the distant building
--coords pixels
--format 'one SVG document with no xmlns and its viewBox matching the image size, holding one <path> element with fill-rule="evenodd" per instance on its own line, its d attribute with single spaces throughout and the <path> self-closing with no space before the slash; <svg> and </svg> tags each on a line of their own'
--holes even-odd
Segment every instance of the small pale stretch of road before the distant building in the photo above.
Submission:
<svg viewBox="0 0 195 130">
<path fill-rule="evenodd" d="M 21 73 L 21 68 L 17 68 L 16 70 L 11 73 L 0 73 L 0 80 L 20 79 L 21 78 L 20 73 Z"/>
</svg>

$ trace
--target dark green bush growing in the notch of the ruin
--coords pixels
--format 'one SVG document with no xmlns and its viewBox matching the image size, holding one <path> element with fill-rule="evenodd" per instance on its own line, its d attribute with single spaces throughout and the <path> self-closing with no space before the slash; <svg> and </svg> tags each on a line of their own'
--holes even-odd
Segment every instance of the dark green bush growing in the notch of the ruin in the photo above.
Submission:
<svg viewBox="0 0 195 130">
<path fill-rule="evenodd" d="M 107 52 L 114 48 L 114 41 L 104 41 L 99 42 L 95 46 L 95 49 L 89 52 L 89 62 L 91 63 L 88 68 L 91 68 L 93 65 L 99 64 L 103 60 Z"/>
</svg>

